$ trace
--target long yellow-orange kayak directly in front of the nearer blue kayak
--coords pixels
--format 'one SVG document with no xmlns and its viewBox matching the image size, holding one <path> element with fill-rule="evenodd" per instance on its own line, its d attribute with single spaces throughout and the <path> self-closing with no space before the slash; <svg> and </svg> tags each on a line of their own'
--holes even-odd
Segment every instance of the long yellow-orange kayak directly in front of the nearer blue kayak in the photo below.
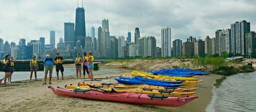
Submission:
<svg viewBox="0 0 256 112">
<path fill-rule="evenodd" d="M 104 86 L 104 87 L 115 87 L 115 88 L 141 88 L 141 89 L 150 89 L 150 90 L 170 90 L 170 91 L 177 91 L 177 92 L 193 92 L 196 91 L 195 88 L 187 89 L 187 88 L 177 88 L 174 89 L 171 87 L 163 87 L 163 86 L 154 86 L 154 85 L 124 85 L 124 84 L 100 84 L 100 83 L 78 83 L 80 86 Z"/>
</svg>

